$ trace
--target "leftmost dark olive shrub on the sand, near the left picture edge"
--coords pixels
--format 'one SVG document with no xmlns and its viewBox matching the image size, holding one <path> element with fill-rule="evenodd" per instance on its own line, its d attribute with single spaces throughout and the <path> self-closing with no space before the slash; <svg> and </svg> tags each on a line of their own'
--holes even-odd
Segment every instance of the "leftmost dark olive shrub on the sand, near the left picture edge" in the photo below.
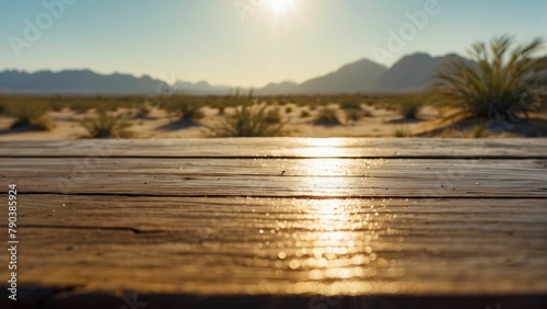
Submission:
<svg viewBox="0 0 547 309">
<path fill-rule="evenodd" d="M 47 107 L 36 104 L 23 104 L 14 107 L 9 114 L 15 116 L 10 128 L 30 128 L 34 130 L 53 130 L 56 126 L 46 116 Z"/>
</svg>

